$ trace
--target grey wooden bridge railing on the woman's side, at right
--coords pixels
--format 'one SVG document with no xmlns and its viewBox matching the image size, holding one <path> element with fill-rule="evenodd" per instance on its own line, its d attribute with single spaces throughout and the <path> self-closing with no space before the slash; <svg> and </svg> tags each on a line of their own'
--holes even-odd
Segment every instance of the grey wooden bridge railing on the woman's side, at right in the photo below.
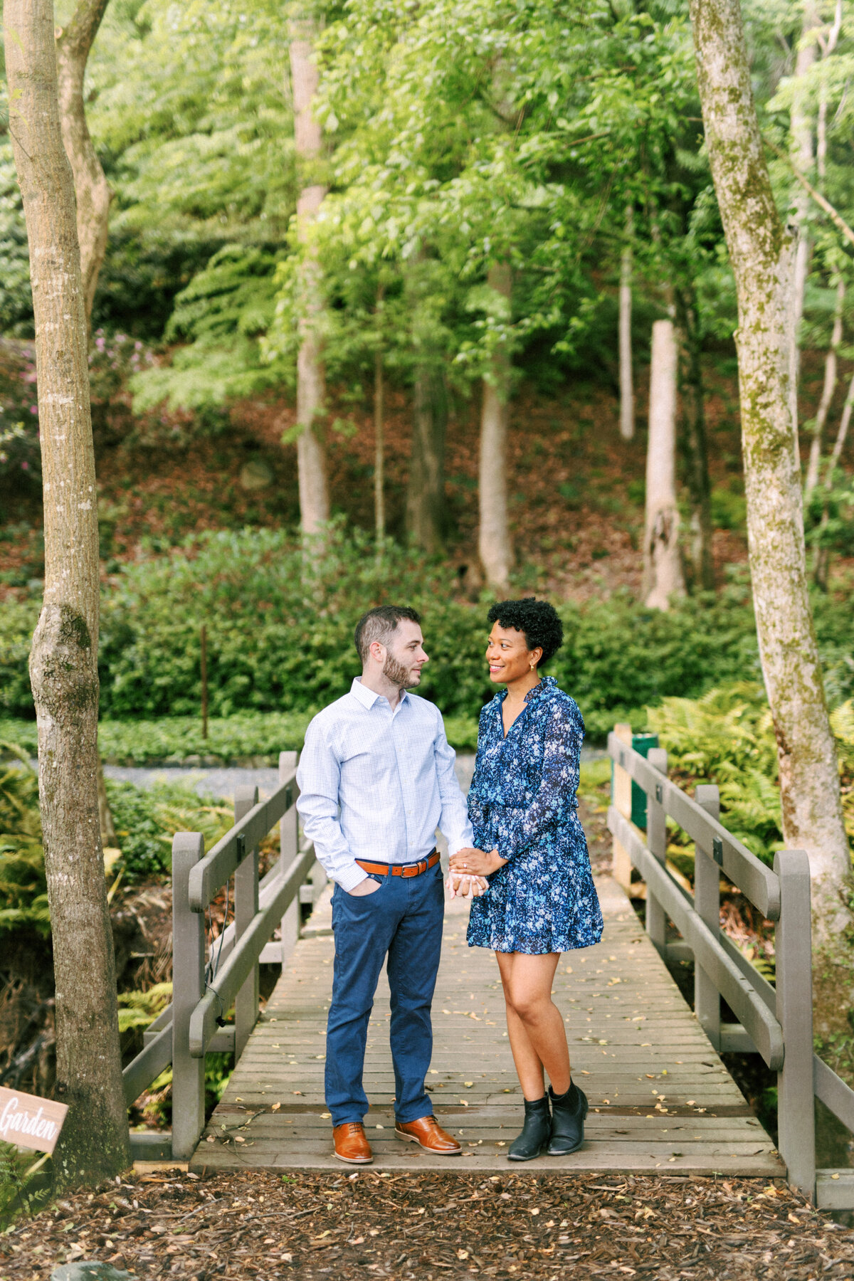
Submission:
<svg viewBox="0 0 854 1281">
<path fill-rule="evenodd" d="M 854 1209 L 854 1170 L 816 1168 L 816 1098 L 854 1132 L 854 1090 L 813 1053 L 809 861 L 775 854 L 773 870 L 718 821 L 717 787 L 689 797 L 667 779 L 667 752 L 632 749 L 631 726 L 608 735 L 613 761 L 608 829 L 613 875 L 630 889 L 632 867 L 647 884 L 647 933 L 665 959 L 694 961 L 694 1012 L 717 1050 L 759 1053 L 777 1072 L 778 1149 L 789 1180 L 823 1209 Z M 632 784 L 647 799 L 645 833 L 631 821 Z M 667 866 L 667 819 L 695 844 L 694 894 Z M 776 984 L 721 930 L 721 875 L 775 922 Z M 667 938 L 671 921 L 680 940 Z M 721 998 L 739 1020 L 721 1021 Z"/>
</svg>

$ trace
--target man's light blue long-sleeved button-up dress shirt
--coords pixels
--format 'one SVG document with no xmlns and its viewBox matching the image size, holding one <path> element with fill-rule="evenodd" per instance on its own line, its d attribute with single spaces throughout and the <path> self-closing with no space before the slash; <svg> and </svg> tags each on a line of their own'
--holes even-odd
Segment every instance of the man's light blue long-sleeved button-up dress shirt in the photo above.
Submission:
<svg viewBox="0 0 854 1281">
<path fill-rule="evenodd" d="M 453 762 L 434 703 L 406 692 L 392 711 L 356 678 L 309 725 L 297 770 L 297 810 L 326 875 L 355 889 L 365 880 L 357 858 L 415 862 L 437 828 L 452 854 L 471 845 Z"/>
</svg>

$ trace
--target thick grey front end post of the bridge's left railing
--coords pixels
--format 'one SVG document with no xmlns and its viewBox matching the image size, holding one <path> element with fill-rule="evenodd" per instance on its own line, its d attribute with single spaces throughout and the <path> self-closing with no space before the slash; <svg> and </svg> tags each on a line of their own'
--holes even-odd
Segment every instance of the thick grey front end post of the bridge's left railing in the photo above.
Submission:
<svg viewBox="0 0 854 1281">
<path fill-rule="evenodd" d="M 197 831 L 172 842 L 172 1154 L 188 1161 L 205 1127 L 205 1059 L 189 1053 L 189 1016 L 205 991 L 205 917 L 189 907 L 189 872 L 205 854 Z"/>
</svg>

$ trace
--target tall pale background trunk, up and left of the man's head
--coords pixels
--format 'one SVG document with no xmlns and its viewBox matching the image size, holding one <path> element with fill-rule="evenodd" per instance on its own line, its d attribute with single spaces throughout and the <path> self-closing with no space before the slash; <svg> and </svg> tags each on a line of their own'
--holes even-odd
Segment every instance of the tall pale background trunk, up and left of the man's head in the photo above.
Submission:
<svg viewBox="0 0 854 1281">
<path fill-rule="evenodd" d="M 311 224 L 326 195 L 321 173 L 320 124 L 311 114 L 318 90 L 318 68 L 311 60 L 318 23 L 314 18 L 292 19 L 291 82 L 293 88 L 293 135 L 297 156 L 297 240 L 302 245 L 300 265 L 300 352 L 297 356 L 297 469 L 300 519 L 305 534 L 316 534 L 329 520 L 326 451 L 323 439 L 326 380 L 323 364 L 320 320 L 324 310 L 323 274 L 311 245 Z"/>
</svg>

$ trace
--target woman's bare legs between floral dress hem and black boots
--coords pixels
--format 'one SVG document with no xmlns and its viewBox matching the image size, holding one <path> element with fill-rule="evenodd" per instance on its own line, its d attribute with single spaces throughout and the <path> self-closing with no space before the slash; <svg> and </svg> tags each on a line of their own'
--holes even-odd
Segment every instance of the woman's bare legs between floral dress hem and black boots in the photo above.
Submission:
<svg viewBox="0 0 854 1281">
<path fill-rule="evenodd" d="M 552 983 L 560 953 L 528 956 L 497 952 L 498 971 L 507 1004 L 507 1034 L 513 1063 L 526 1099 L 542 1099 L 543 1070 L 556 1094 L 571 1084 L 570 1050 L 560 1009 L 552 1000 Z"/>
</svg>

